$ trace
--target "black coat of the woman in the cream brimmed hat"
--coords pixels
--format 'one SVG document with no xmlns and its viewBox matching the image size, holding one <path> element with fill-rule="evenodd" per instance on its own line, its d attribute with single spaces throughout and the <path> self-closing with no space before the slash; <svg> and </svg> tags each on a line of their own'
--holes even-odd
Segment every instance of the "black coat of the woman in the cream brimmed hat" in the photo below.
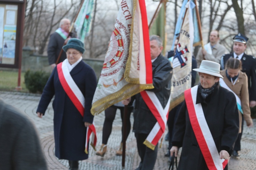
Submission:
<svg viewBox="0 0 256 170">
<path fill-rule="evenodd" d="M 197 92 L 196 104 L 198 103 L 202 104 L 205 120 L 218 152 L 226 150 L 231 155 L 239 131 L 236 97 L 232 92 L 218 86 L 206 100 Z M 174 126 L 172 145 L 182 147 L 178 169 L 208 169 L 192 129 L 185 102 Z"/>
</svg>

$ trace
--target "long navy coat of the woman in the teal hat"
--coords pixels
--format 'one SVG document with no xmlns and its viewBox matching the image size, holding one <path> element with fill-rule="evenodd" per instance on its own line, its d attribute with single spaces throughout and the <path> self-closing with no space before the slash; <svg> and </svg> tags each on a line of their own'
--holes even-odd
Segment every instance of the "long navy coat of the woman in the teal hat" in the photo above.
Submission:
<svg viewBox="0 0 256 170">
<path fill-rule="evenodd" d="M 53 101 L 55 155 L 59 159 L 84 160 L 88 158 L 88 154 L 84 152 L 86 138 L 84 122 L 93 122 L 94 116 L 91 115 L 90 109 L 97 81 L 94 70 L 83 61 L 72 69 L 70 75 L 85 97 L 84 117 L 62 88 L 57 67 L 54 68 L 44 87 L 37 112 L 44 114 L 55 95 Z"/>
</svg>

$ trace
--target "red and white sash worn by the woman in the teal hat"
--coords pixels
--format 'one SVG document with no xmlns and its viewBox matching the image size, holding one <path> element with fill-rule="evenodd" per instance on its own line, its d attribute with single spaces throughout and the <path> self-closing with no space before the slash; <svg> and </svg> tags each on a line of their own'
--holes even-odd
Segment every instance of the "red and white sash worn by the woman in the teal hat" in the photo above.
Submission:
<svg viewBox="0 0 256 170">
<path fill-rule="evenodd" d="M 67 60 L 67 59 L 66 59 Z M 65 90 L 66 94 L 72 101 L 72 103 L 75 105 L 79 113 L 84 116 L 84 105 L 85 105 L 85 98 L 80 91 L 79 87 L 75 84 L 74 80 L 72 79 L 68 66 L 67 61 L 63 61 L 62 63 L 59 63 L 57 65 L 57 71 L 58 71 L 58 77 L 60 80 L 60 84 L 62 85 L 63 89 Z M 90 125 L 87 127 L 86 130 L 86 142 L 85 142 L 85 153 L 88 154 L 88 142 L 91 133 L 92 139 L 91 139 L 91 146 L 95 149 L 96 142 L 97 142 L 97 136 L 96 136 L 96 130 L 95 126 Z"/>
</svg>

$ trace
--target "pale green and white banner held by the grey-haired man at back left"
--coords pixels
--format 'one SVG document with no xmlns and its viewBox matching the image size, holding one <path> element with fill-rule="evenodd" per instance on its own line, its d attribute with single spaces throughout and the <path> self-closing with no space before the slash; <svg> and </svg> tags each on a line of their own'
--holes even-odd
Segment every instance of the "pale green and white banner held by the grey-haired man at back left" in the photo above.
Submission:
<svg viewBox="0 0 256 170">
<path fill-rule="evenodd" d="M 94 0 L 84 0 L 81 10 L 74 21 L 77 38 L 84 42 L 85 37 L 91 29 L 91 13 L 93 11 Z"/>
</svg>

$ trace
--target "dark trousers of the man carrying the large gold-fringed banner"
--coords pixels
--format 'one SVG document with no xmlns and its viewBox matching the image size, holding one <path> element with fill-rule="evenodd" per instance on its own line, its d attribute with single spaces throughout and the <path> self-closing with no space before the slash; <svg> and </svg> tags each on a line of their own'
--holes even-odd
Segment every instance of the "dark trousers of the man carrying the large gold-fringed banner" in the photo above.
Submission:
<svg viewBox="0 0 256 170">
<path fill-rule="evenodd" d="M 156 163 L 158 144 L 155 150 L 146 147 L 143 142 L 146 140 L 148 134 L 135 133 L 137 148 L 141 158 L 140 170 L 152 170 Z"/>
</svg>

